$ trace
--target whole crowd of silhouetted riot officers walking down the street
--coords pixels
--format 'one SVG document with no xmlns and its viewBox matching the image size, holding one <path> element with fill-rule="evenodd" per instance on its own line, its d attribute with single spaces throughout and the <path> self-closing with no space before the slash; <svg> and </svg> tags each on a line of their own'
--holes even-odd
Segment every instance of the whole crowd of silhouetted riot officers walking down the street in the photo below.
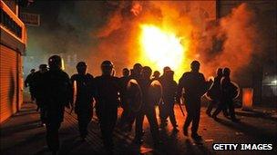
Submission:
<svg viewBox="0 0 277 155">
<path fill-rule="evenodd" d="M 179 131 L 174 114 L 174 104 L 184 100 L 187 115 L 183 126 L 183 134 L 188 136 L 190 123 L 191 138 L 200 140 L 198 134 L 200 123 L 201 97 L 207 93 L 211 102 L 206 113 L 217 120 L 223 111 L 231 121 L 239 121 L 235 117 L 233 98 L 235 90 L 231 84 L 230 69 L 218 69 L 214 82 L 206 81 L 200 73 L 200 63 L 190 63 L 191 71 L 184 73 L 179 82 L 174 81 L 174 71 L 164 67 L 160 76 L 158 71 L 152 73 L 149 66 L 134 64 L 128 70 L 124 68 L 122 77 L 116 77 L 114 64 L 110 61 L 101 63 L 102 74 L 93 77 L 87 73 L 87 63 L 77 63 L 77 73 L 71 78 L 61 69 L 61 57 L 53 55 L 46 64 L 39 66 L 39 71 L 32 70 L 27 76 L 25 85 L 29 86 L 32 101 L 36 101 L 40 111 L 42 124 L 46 126 L 46 143 L 56 154 L 59 149 L 58 130 L 64 118 L 65 108 L 71 108 L 77 114 L 80 138 L 87 137 L 87 127 L 96 109 L 101 138 L 108 152 L 113 150 L 113 131 L 118 122 L 122 131 L 132 131 L 135 123 L 134 142 L 143 142 L 143 121 L 146 116 L 155 146 L 161 143 L 159 129 L 168 125 L 168 118 L 173 131 Z M 152 100 L 149 88 L 153 82 L 160 83 L 160 100 Z M 131 89 L 130 89 L 131 88 Z M 95 106 L 93 106 L 95 103 Z M 159 106 L 159 120 L 156 114 Z M 212 108 L 217 106 L 211 114 Z M 118 121 L 118 107 L 123 109 Z"/>
</svg>

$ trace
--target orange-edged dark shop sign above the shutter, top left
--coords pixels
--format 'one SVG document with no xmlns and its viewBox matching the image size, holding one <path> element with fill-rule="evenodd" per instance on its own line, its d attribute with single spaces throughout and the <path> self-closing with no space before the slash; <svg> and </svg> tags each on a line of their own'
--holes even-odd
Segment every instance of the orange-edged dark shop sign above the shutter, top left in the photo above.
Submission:
<svg viewBox="0 0 277 155">
<path fill-rule="evenodd" d="M 14 36 L 22 44 L 26 44 L 25 24 L 2 0 L 0 2 L 0 28 Z"/>
</svg>

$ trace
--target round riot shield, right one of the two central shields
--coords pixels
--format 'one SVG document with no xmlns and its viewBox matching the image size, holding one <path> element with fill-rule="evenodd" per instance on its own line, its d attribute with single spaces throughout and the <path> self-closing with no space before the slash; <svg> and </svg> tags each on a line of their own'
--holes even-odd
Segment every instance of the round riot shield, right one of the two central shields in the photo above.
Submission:
<svg viewBox="0 0 277 155">
<path fill-rule="evenodd" d="M 162 98 L 162 86 L 158 80 L 154 80 L 149 86 L 149 103 L 158 105 Z"/>
</svg>

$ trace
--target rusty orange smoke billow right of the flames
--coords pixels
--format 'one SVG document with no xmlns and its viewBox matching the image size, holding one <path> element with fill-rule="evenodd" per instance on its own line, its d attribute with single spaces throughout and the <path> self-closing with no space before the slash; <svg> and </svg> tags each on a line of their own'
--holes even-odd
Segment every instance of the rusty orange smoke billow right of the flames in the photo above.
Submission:
<svg viewBox="0 0 277 155">
<path fill-rule="evenodd" d="M 217 32 L 211 32 L 213 35 L 211 34 L 207 39 L 218 42 L 221 47 L 210 48 L 210 53 L 204 54 L 205 73 L 211 74 L 210 72 L 214 72 L 217 67 L 229 67 L 233 73 L 244 70 L 251 63 L 253 54 L 261 50 L 261 44 L 259 44 L 261 37 L 256 24 L 254 13 L 246 4 L 232 9 L 231 15 L 220 19 L 219 25 L 210 30 Z M 210 37 L 215 38 L 211 40 Z M 212 47 L 211 44 L 205 45 Z M 218 51 L 212 53 L 214 52 L 212 50 Z"/>
</svg>

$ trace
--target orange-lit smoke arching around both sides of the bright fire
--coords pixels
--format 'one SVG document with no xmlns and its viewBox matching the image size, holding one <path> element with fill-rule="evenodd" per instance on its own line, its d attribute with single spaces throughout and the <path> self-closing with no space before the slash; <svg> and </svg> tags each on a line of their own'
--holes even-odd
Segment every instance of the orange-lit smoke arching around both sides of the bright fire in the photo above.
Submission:
<svg viewBox="0 0 277 155">
<path fill-rule="evenodd" d="M 233 75 L 244 72 L 253 54 L 262 48 L 255 14 L 246 4 L 216 20 L 212 1 L 143 1 L 120 3 L 98 34 L 99 53 L 109 55 L 118 68 L 139 62 L 139 24 L 155 24 L 184 38 L 189 50 L 183 72 L 189 71 L 190 62 L 196 59 L 207 77 L 218 67 L 231 68 Z"/>
</svg>

